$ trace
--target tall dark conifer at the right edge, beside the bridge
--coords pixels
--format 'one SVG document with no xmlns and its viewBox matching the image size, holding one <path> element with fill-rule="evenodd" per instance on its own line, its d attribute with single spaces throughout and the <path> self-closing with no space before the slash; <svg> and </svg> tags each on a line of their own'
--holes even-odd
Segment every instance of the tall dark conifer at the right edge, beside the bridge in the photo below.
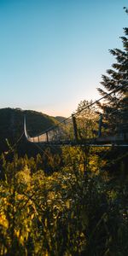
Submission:
<svg viewBox="0 0 128 256">
<path fill-rule="evenodd" d="M 128 13 L 128 9 L 125 12 Z M 103 89 L 97 89 L 102 96 L 107 96 L 99 107 L 102 109 L 103 119 L 108 123 L 110 134 L 112 131 L 114 134 L 128 132 L 128 27 L 124 28 L 124 32 L 125 36 L 121 37 L 123 49 L 109 50 L 116 63 L 107 70 L 107 75 L 102 75 Z M 108 95 L 109 93 L 111 94 Z"/>
</svg>

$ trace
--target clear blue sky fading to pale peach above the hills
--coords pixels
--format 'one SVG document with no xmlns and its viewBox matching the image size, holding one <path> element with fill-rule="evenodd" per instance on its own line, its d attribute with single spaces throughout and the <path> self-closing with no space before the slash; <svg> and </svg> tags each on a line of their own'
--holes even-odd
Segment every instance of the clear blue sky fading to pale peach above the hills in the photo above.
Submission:
<svg viewBox="0 0 128 256">
<path fill-rule="evenodd" d="M 100 98 L 126 0 L 0 0 L 0 108 L 68 117 Z"/>
</svg>

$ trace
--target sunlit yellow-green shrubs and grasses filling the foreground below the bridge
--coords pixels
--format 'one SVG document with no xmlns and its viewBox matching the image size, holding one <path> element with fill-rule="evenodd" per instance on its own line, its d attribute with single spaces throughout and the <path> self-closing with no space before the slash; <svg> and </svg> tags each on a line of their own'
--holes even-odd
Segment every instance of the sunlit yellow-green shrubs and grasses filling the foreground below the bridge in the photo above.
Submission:
<svg viewBox="0 0 128 256">
<path fill-rule="evenodd" d="M 127 176 L 100 172 L 109 149 L 90 150 L 84 170 L 87 152 L 63 148 L 50 175 L 40 155 L 1 155 L 0 255 L 128 255 Z"/>
</svg>

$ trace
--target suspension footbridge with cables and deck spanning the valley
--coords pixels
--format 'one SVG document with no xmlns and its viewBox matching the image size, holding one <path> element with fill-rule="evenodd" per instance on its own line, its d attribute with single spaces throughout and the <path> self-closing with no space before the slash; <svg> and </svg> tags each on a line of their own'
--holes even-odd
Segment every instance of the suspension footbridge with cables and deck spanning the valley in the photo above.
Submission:
<svg viewBox="0 0 128 256">
<path fill-rule="evenodd" d="M 116 108 L 109 113 L 100 113 L 98 103 L 102 103 L 108 96 L 116 94 L 128 84 L 119 86 L 106 96 L 80 108 L 62 122 L 49 127 L 44 132 L 30 137 L 26 129 L 24 118 L 24 132 L 30 143 L 44 145 L 86 145 L 94 147 L 128 147 L 128 106 L 123 110 Z"/>
</svg>

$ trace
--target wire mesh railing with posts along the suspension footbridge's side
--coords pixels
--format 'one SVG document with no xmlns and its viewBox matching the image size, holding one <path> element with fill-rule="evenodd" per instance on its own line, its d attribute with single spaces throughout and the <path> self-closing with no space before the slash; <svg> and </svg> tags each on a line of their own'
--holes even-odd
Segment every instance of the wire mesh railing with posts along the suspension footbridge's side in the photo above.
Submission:
<svg viewBox="0 0 128 256">
<path fill-rule="evenodd" d="M 113 90 L 113 93 L 117 91 Z M 112 92 L 108 96 L 111 94 Z M 126 133 L 128 131 L 128 108 L 125 107 L 123 110 L 109 108 L 108 113 L 99 113 L 96 104 L 104 99 L 106 100 L 106 96 L 96 102 L 91 102 L 90 105 L 35 137 L 28 136 L 25 119 L 24 130 L 27 140 L 32 143 L 78 143 L 96 137 L 112 137 Z M 94 106 L 96 108 L 91 108 Z"/>
</svg>

